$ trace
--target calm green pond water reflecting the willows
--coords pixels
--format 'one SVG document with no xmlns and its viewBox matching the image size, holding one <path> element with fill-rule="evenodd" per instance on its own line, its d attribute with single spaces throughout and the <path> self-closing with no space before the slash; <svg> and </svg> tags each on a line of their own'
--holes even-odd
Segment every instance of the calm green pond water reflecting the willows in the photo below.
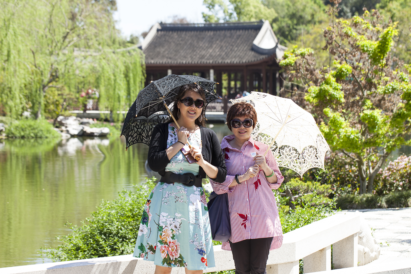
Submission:
<svg viewBox="0 0 411 274">
<path fill-rule="evenodd" d="M 220 141 L 231 133 L 212 129 Z M 66 222 L 81 225 L 102 199 L 144 181 L 147 151 L 125 151 L 124 138 L 0 139 L 0 267 L 51 262 L 39 248 L 57 246 Z"/>
</svg>

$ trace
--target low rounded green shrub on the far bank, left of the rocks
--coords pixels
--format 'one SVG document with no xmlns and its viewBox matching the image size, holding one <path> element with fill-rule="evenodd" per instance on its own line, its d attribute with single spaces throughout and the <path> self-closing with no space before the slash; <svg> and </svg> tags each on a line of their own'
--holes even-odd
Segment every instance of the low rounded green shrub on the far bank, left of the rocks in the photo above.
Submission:
<svg viewBox="0 0 411 274">
<path fill-rule="evenodd" d="M 58 138 L 60 133 L 46 120 L 23 119 L 6 128 L 6 136 L 12 138 Z"/>
</svg>

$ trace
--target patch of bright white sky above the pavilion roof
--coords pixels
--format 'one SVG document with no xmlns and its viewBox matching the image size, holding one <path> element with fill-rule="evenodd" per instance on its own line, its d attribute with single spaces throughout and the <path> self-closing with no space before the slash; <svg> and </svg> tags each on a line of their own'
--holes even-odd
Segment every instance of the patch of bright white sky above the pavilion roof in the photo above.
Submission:
<svg viewBox="0 0 411 274">
<path fill-rule="evenodd" d="M 140 36 L 156 22 L 171 22 L 174 15 L 203 23 L 201 12 L 208 12 L 203 0 L 117 0 L 117 9 L 116 26 L 125 37 Z"/>
</svg>

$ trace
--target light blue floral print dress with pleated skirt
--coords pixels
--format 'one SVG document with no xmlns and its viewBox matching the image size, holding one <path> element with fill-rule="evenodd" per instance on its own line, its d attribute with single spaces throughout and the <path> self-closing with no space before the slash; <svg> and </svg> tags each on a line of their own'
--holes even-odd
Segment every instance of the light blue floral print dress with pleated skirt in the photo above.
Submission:
<svg viewBox="0 0 411 274">
<path fill-rule="evenodd" d="M 169 124 L 167 147 L 177 142 L 177 129 Z M 197 130 L 189 142 L 201 148 Z M 199 165 L 189 164 L 179 151 L 166 167 L 175 173 L 199 173 Z M 134 257 L 154 261 L 164 267 L 202 270 L 214 267 L 210 219 L 202 187 L 159 182 L 145 204 Z"/>
</svg>

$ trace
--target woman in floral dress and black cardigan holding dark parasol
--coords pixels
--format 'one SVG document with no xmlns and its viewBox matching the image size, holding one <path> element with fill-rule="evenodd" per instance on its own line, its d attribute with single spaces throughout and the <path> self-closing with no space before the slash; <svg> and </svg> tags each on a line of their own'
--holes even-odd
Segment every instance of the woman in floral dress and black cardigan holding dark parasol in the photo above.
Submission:
<svg viewBox="0 0 411 274">
<path fill-rule="evenodd" d="M 201 180 L 207 175 L 223 182 L 226 167 L 217 135 L 205 128 L 205 102 L 199 84 L 181 86 L 174 98 L 177 120 L 160 123 L 152 132 L 148 165 L 162 178 L 145 205 L 133 256 L 154 261 L 155 274 L 168 274 L 171 267 L 197 274 L 215 266 Z M 196 163 L 189 163 L 183 146 Z"/>
</svg>

